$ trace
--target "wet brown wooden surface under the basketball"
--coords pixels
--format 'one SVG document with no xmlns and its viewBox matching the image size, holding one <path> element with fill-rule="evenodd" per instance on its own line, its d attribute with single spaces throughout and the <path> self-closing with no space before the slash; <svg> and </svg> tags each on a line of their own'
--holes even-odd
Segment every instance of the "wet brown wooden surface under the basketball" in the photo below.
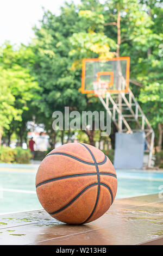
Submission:
<svg viewBox="0 0 163 256">
<path fill-rule="evenodd" d="M 0 215 L 0 245 L 163 244 L 163 199 L 158 194 L 117 199 L 101 218 L 61 223 L 45 210 Z"/>
</svg>

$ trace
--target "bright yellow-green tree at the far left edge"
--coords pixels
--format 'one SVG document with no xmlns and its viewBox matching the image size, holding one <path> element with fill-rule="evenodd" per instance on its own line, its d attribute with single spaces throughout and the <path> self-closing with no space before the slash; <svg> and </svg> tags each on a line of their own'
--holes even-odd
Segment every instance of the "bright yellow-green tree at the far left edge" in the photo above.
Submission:
<svg viewBox="0 0 163 256">
<path fill-rule="evenodd" d="M 13 127 L 22 132 L 25 129 L 20 127 L 20 123 L 26 126 L 23 116 L 24 111 L 29 110 L 28 102 L 36 96 L 37 82 L 29 74 L 29 69 L 24 68 L 22 52 L 15 50 L 9 43 L 2 48 L 2 57 L 0 58 L 1 69 L 1 138 L 3 129 L 8 130 L 10 135 L 14 131 Z M 24 55 L 25 56 L 25 55 Z M 25 65 L 24 65 L 25 66 Z M 12 128 L 10 124 L 12 123 Z M 11 131 L 11 129 L 13 129 Z M 1 139 L 0 138 L 0 139 Z M 22 142 L 21 142 L 22 144 Z"/>
</svg>

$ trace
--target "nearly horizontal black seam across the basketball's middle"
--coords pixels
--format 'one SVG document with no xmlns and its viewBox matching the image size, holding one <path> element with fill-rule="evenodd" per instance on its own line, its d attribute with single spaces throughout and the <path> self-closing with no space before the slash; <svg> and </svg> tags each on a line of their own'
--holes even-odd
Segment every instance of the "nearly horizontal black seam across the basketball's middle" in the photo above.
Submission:
<svg viewBox="0 0 163 256">
<path fill-rule="evenodd" d="M 80 176 L 91 176 L 91 175 L 97 175 L 97 173 L 77 173 L 77 174 L 60 176 L 60 177 L 57 177 L 57 178 L 42 181 L 42 182 L 40 182 L 39 184 L 36 185 L 36 188 L 43 185 L 43 184 L 46 184 L 48 182 L 52 182 L 52 181 L 55 181 L 55 180 L 62 180 L 62 179 L 67 179 L 67 178 L 80 177 Z M 99 173 L 99 175 L 108 175 L 108 176 L 112 176 L 112 177 L 117 178 L 117 176 L 113 173 L 104 173 L 103 172 L 103 173 Z"/>
</svg>

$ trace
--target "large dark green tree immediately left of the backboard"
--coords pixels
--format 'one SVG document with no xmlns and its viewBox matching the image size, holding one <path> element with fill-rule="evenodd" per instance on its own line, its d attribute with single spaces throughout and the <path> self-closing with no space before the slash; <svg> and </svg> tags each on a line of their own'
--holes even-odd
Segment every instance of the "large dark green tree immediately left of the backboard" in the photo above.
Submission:
<svg viewBox="0 0 163 256">
<path fill-rule="evenodd" d="M 103 22 L 99 10 L 96 13 L 83 10 L 83 5 L 78 9 L 74 4 L 66 4 L 59 16 L 45 12 L 41 28 L 35 28 L 36 39 L 31 47 L 37 56 L 33 75 L 41 87 L 37 106 L 40 118 L 44 116 L 48 120 L 45 126 L 47 131 L 51 131 L 51 137 L 55 137 L 55 131 L 49 129 L 54 111 L 64 112 L 65 106 L 69 106 L 70 111 L 81 112 L 102 108 L 96 97 L 82 95 L 79 88 L 83 57 L 113 56 L 109 53 L 109 44 L 114 42 L 104 35 Z M 85 132 L 90 144 L 94 144 L 95 131 Z"/>
</svg>

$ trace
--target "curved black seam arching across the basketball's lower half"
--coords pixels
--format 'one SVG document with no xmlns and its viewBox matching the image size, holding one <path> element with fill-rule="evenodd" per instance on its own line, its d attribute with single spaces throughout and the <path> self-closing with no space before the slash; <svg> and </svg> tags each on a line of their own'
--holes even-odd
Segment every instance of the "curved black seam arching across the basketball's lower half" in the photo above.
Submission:
<svg viewBox="0 0 163 256">
<path fill-rule="evenodd" d="M 51 214 L 51 215 L 54 215 L 54 214 L 58 214 L 59 212 L 61 212 L 62 210 L 65 210 L 68 206 L 70 206 L 78 197 L 80 197 L 81 196 L 81 194 L 83 194 L 87 189 L 89 189 L 90 187 L 93 187 L 93 186 L 97 186 L 98 185 L 98 183 L 92 183 L 92 184 L 90 184 L 89 186 L 87 186 L 87 187 L 85 187 L 84 188 L 84 190 L 82 190 L 82 191 L 80 191 L 80 193 L 79 194 L 77 194 L 77 196 L 76 197 L 74 197 L 68 204 L 66 204 L 65 206 L 63 206 L 62 208 L 60 208 L 59 210 L 57 210 L 57 211 L 53 211 L 53 212 L 48 212 L 48 214 Z M 100 185 L 102 185 L 102 186 L 105 186 L 105 187 L 107 187 L 108 188 L 108 190 L 109 190 L 109 192 L 110 192 L 110 194 L 111 194 L 111 204 L 112 204 L 112 192 L 111 192 L 111 190 L 110 190 L 110 187 L 108 186 L 108 185 L 106 185 L 105 183 L 102 183 L 102 182 L 100 182 Z M 92 216 L 92 215 L 91 215 Z M 89 217 L 90 218 L 90 217 Z M 89 218 L 87 218 L 87 220 L 89 220 Z M 86 221 L 87 221 L 86 220 Z M 84 221 L 84 222 L 86 222 L 86 221 Z M 83 222 L 83 223 L 84 223 Z M 82 223 L 82 224 L 83 224 Z"/>
</svg>

